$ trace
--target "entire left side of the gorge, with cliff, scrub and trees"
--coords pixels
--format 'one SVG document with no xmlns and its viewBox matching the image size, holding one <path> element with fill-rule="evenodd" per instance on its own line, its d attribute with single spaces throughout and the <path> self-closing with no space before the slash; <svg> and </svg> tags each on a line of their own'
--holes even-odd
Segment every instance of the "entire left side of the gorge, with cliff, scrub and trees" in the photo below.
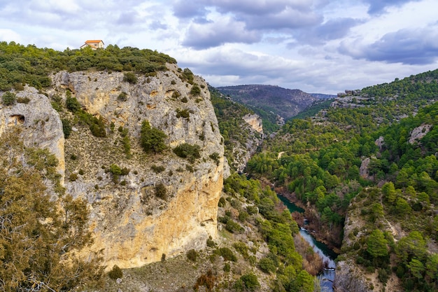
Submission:
<svg viewBox="0 0 438 292">
<path fill-rule="evenodd" d="M 252 111 L 150 50 L 0 53 L 0 290 L 313 291 L 297 223 L 236 172 Z"/>
</svg>

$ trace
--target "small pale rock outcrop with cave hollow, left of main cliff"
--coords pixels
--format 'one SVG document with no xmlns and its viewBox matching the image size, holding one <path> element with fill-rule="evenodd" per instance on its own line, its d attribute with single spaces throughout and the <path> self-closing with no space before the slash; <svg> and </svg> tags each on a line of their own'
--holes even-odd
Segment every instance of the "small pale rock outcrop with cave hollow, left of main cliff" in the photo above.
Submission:
<svg viewBox="0 0 438 292">
<path fill-rule="evenodd" d="M 24 146 L 48 148 L 59 164 L 57 171 L 64 179 L 64 134 L 57 111 L 50 100 L 29 86 L 15 92 L 17 103 L 0 106 L 0 135 L 8 127 L 18 126 Z"/>
</svg>

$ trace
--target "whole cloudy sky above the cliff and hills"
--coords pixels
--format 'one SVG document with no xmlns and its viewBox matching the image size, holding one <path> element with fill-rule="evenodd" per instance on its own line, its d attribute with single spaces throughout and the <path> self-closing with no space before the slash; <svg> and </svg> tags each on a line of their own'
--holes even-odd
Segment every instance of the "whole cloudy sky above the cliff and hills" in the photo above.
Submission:
<svg viewBox="0 0 438 292">
<path fill-rule="evenodd" d="M 438 69 L 437 0 L 0 0 L 0 41 L 166 53 L 213 86 L 335 94 Z"/>
</svg>

